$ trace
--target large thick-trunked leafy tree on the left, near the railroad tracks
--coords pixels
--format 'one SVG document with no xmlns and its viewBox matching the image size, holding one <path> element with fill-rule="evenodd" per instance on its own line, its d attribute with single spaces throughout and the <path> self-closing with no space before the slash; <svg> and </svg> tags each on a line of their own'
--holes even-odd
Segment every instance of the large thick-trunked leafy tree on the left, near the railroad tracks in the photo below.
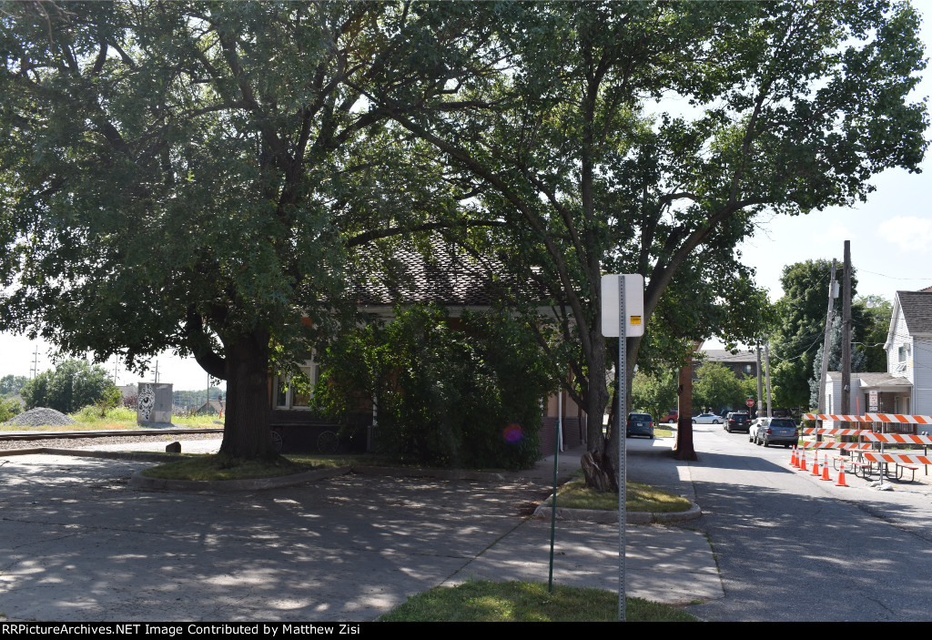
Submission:
<svg viewBox="0 0 932 640">
<path fill-rule="evenodd" d="M 269 367 L 304 357 L 333 317 L 347 250 L 451 224 L 458 199 L 412 146 L 383 144 L 385 112 L 364 95 L 444 92 L 447 63 L 484 42 L 480 17 L 5 4 L 0 328 L 130 367 L 193 354 L 227 383 L 221 453 L 275 456 Z"/>
</svg>

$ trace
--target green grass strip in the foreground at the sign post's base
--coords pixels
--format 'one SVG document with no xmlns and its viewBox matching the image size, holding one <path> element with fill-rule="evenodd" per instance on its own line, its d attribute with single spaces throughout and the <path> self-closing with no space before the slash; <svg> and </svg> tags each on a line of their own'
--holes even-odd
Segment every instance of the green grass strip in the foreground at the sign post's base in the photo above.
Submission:
<svg viewBox="0 0 932 640">
<path fill-rule="evenodd" d="M 627 598 L 625 619 L 632 622 L 698 621 L 671 606 Z M 610 622 L 618 620 L 618 594 L 601 589 L 541 582 L 472 580 L 437 587 L 408 598 L 379 621 L 387 622 Z"/>
</svg>

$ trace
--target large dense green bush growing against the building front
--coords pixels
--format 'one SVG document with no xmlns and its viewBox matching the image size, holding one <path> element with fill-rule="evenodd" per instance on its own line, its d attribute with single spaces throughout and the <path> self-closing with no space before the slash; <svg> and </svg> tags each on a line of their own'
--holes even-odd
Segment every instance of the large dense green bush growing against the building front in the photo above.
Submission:
<svg viewBox="0 0 932 640">
<path fill-rule="evenodd" d="M 541 399 L 555 388 L 527 326 L 507 313 L 396 309 L 337 340 L 322 357 L 315 402 L 346 415 L 377 399 L 377 448 L 438 467 L 523 469 L 539 456 Z"/>
</svg>

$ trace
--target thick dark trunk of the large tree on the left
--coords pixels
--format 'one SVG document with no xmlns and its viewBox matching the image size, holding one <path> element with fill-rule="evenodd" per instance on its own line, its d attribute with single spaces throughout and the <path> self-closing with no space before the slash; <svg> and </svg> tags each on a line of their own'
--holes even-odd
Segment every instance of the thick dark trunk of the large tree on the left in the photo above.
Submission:
<svg viewBox="0 0 932 640">
<path fill-rule="evenodd" d="M 220 453 L 274 459 L 268 408 L 268 334 L 257 329 L 224 342 L 226 418 Z"/>
</svg>

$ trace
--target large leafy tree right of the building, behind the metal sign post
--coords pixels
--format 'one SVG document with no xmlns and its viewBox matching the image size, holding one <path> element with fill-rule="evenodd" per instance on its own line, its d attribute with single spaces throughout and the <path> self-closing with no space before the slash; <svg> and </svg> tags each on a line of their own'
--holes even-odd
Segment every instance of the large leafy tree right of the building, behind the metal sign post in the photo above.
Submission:
<svg viewBox="0 0 932 640">
<path fill-rule="evenodd" d="M 919 16 L 883 1 L 519 8 L 499 48 L 473 51 L 476 67 L 494 57 L 494 81 L 451 69 L 450 91 L 419 114 L 390 91 L 369 98 L 510 223 L 468 239 L 508 247 L 515 269 L 550 288 L 575 347 L 565 385 L 599 449 L 601 275 L 646 280 L 649 335 L 629 340 L 629 376 L 651 333 L 678 337 L 681 354 L 682 339 L 728 321 L 739 334 L 716 303 L 747 289 L 734 246 L 758 213 L 852 205 L 877 172 L 918 170 Z"/>
</svg>

